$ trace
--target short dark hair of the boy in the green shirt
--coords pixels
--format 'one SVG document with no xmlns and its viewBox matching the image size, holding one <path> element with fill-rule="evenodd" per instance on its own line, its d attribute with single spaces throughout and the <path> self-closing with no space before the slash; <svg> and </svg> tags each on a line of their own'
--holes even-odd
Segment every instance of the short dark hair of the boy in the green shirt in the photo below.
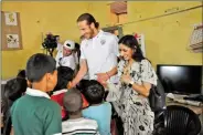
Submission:
<svg viewBox="0 0 203 135">
<path fill-rule="evenodd" d="M 33 54 L 26 62 L 26 77 L 32 82 L 40 82 L 46 73 L 53 73 L 56 70 L 55 60 L 46 54 Z"/>
</svg>

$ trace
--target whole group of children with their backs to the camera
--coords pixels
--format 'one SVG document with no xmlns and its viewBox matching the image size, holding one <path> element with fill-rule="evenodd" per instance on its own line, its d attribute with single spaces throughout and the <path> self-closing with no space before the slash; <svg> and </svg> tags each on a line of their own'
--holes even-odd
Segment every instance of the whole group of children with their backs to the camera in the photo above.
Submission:
<svg viewBox="0 0 203 135">
<path fill-rule="evenodd" d="M 4 135 L 110 135 L 111 105 L 97 81 L 67 90 L 74 71 L 56 69 L 56 61 L 42 53 L 28 60 L 25 74 L 4 86 Z"/>
</svg>

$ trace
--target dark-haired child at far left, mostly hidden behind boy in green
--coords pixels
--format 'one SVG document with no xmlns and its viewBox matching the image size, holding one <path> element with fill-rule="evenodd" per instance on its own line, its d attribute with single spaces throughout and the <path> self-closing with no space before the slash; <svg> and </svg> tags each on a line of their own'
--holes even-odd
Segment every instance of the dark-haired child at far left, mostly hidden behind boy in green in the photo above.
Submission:
<svg viewBox="0 0 203 135">
<path fill-rule="evenodd" d="M 9 80 L 2 91 L 2 113 L 3 113 L 3 135 L 11 134 L 11 114 L 10 108 L 14 101 L 20 98 L 26 90 L 26 80 L 15 77 Z"/>
</svg>

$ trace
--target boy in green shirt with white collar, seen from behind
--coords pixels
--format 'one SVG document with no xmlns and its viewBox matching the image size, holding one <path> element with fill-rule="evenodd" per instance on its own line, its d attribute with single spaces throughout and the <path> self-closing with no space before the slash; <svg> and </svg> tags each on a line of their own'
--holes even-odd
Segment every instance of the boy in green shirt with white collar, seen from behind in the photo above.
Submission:
<svg viewBox="0 0 203 135">
<path fill-rule="evenodd" d="M 26 77 L 32 89 L 11 107 L 15 135 L 54 135 L 62 133 L 60 106 L 47 92 L 57 83 L 56 62 L 52 56 L 36 53 L 26 63 Z"/>
</svg>

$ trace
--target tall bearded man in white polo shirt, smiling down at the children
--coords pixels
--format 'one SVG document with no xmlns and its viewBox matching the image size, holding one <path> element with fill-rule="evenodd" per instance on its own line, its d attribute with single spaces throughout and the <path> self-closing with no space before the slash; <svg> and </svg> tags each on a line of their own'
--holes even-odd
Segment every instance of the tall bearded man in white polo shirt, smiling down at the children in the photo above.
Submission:
<svg viewBox="0 0 203 135">
<path fill-rule="evenodd" d="M 75 86 L 87 71 L 89 80 L 97 80 L 101 84 L 117 82 L 117 37 L 99 30 L 99 23 L 89 13 L 79 15 L 77 23 L 84 40 L 81 44 L 81 69 L 71 86 Z"/>
</svg>

